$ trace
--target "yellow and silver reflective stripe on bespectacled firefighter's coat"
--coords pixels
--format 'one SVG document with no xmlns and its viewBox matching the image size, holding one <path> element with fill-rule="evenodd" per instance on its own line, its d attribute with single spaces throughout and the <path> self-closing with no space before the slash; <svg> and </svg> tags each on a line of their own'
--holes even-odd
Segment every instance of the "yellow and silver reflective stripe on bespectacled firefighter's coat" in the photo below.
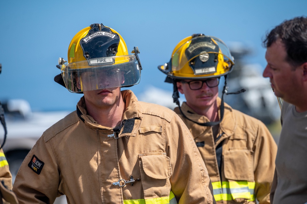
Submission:
<svg viewBox="0 0 307 204">
<path fill-rule="evenodd" d="M 215 201 L 229 201 L 235 198 L 246 198 L 248 201 L 254 201 L 255 182 L 247 181 L 223 181 L 212 182 Z"/>
</svg>

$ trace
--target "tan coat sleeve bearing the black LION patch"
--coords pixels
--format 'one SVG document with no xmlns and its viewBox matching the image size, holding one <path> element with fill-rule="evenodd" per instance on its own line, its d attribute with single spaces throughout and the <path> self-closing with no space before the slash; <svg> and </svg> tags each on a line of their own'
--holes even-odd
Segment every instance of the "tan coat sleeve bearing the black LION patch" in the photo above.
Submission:
<svg viewBox="0 0 307 204">
<path fill-rule="evenodd" d="M 22 162 L 13 192 L 20 204 L 53 203 L 58 195 L 59 170 L 49 141 L 41 137 Z"/>
</svg>

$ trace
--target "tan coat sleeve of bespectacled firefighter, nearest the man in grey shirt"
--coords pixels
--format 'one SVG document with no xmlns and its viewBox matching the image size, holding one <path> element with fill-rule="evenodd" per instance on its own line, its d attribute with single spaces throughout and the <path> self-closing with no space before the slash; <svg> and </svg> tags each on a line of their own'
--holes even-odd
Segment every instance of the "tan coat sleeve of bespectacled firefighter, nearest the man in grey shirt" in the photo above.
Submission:
<svg viewBox="0 0 307 204">
<path fill-rule="evenodd" d="M 255 194 L 259 204 L 270 203 L 277 145 L 266 126 L 259 121 L 254 142 Z"/>
</svg>

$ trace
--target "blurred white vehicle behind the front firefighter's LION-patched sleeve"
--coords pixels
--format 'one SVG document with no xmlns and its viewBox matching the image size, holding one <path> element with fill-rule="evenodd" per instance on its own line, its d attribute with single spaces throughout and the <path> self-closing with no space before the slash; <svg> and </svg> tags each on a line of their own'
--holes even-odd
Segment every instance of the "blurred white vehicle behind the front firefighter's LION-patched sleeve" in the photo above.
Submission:
<svg viewBox="0 0 307 204">
<path fill-rule="evenodd" d="M 1 102 L 5 111 L 7 137 L 3 151 L 9 163 L 13 183 L 20 165 L 43 132 L 71 111 L 32 112 L 30 104 L 22 99 Z M 0 127 L 0 140 L 4 129 Z M 58 204 L 66 202 L 65 196 L 56 199 Z"/>
</svg>

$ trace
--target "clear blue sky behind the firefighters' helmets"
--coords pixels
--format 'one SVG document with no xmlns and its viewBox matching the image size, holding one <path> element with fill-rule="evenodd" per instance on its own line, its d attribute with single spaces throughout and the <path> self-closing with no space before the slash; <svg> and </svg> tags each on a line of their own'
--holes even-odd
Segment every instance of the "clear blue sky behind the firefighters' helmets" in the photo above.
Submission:
<svg viewBox="0 0 307 204">
<path fill-rule="evenodd" d="M 193 2 L 193 3 L 192 3 Z M 22 98 L 32 110 L 74 110 L 81 94 L 53 81 L 59 57 L 67 59 L 73 36 L 92 23 L 115 29 L 128 50 L 140 49 L 137 96 L 156 87 L 172 91 L 157 66 L 183 38 L 204 33 L 226 44 L 252 47 L 246 63 L 263 68 L 265 33 L 286 19 L 306 15 L 307 1 L 0 1 L 0 99 Z M 268 80 L 269 83 L 269 80 Z M 171 95 L 170 95 L 171 97 Z"/>
</svg>

